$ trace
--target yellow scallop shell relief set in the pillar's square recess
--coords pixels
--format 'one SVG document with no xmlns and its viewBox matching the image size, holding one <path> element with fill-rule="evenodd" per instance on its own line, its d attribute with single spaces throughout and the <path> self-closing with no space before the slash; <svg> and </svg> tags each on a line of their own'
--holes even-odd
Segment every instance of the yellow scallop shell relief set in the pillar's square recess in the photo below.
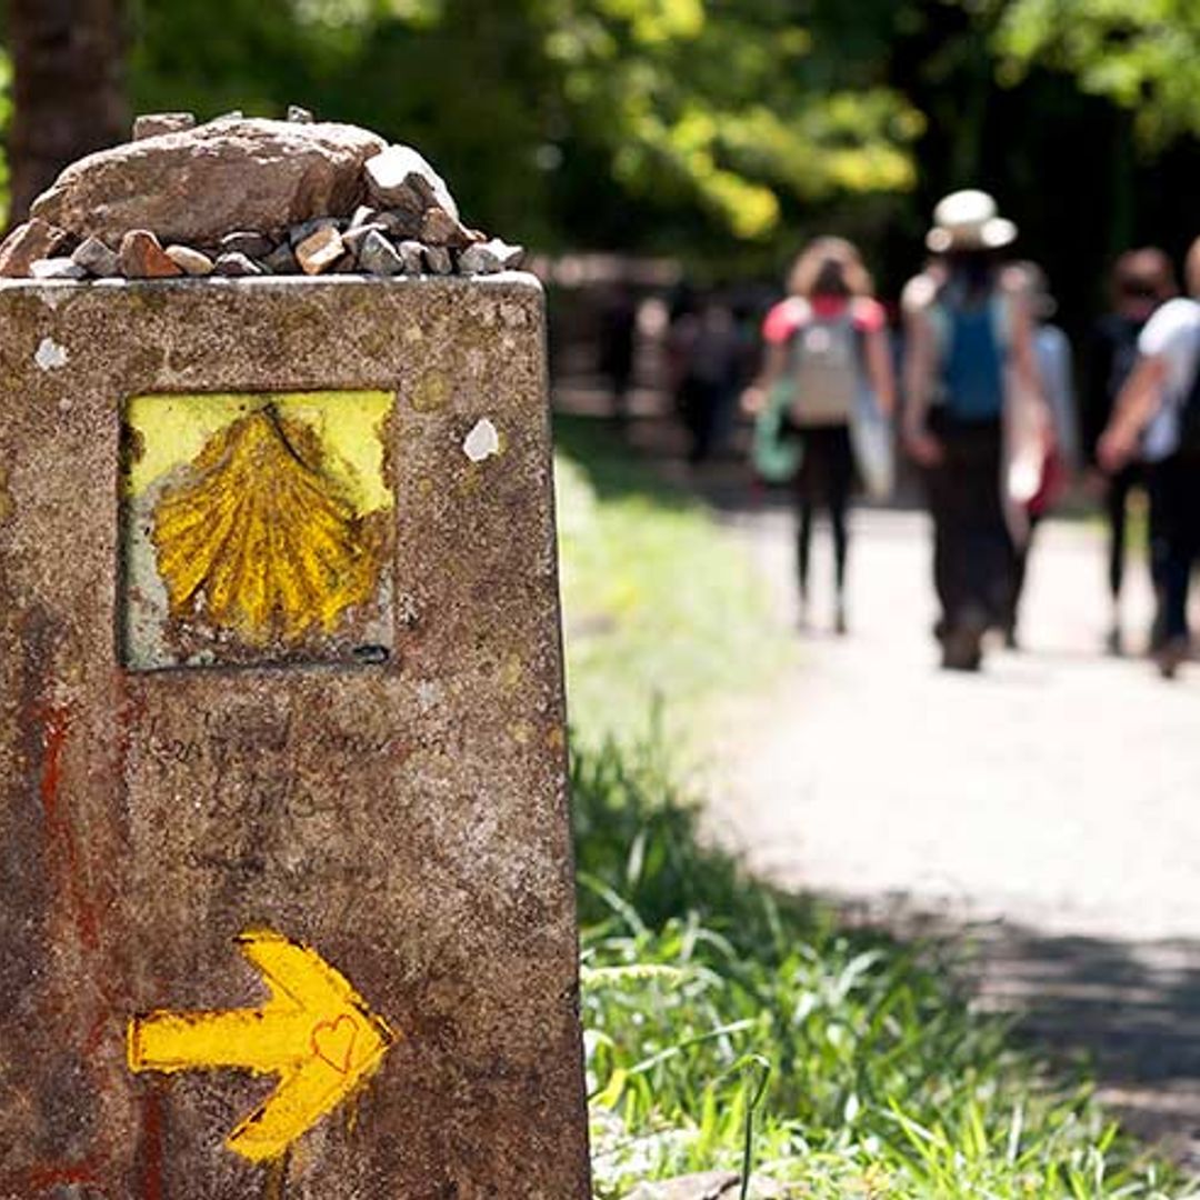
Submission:
<svg viewBox="0 0 1200 1200">
<path fill-rule="evenodd" d="M 373 599 L 379 547 L 320 462 L 313 431 L 272 406 L 209 439 L 155 509 L 173 617 L 296 646 Z"/>
</svg>

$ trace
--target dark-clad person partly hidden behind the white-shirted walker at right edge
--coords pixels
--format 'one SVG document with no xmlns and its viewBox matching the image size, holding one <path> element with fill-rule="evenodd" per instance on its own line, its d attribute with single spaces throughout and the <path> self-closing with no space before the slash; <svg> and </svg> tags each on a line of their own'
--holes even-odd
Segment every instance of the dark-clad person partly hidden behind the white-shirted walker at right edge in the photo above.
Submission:
<svg viewBox="0 0 1200 1200">
<path fill-rule="evenodd" d="M 1154 310 L 1177 294 L 1175 269 L 1156 247 L 1130 250 L 1112 269 L 1111 311 L 1096 324 L 1087 354 L 1087 388 L 1082 397 L 1084 452 L 1097 466 L 1100 434 L 1112 418 L 1114 404 L 1138 360 L 1138 338 Z M 1112 620 L 1106 644 L 1112 654 L 1124 649 L 1121 624 L 1121 593 L 1124 586 L 1128 547 L 1129 504 L 1134 493 L 1144 493 L 1146 468 L 1136 451 L 1126 464 L 1096 478 L 1104 498 L 1109 527 L 1109 594 Z M 1151 638 L 1153 641 L 1153 637 Z"/>
</svg>

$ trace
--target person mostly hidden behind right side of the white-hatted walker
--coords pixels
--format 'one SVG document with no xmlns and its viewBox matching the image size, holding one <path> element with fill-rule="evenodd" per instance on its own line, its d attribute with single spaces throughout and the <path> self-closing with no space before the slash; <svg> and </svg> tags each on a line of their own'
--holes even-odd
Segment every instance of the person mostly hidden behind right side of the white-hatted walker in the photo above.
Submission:
<svg viewBox="0 0 1200 1200">
<path fill-rule="evenodd" d="M 1033 325 L 1033 358 L 1038 368 L 1038 383 L 1054 421 L 1054 438 L 1046 443 L 1038 490 L 1026 505 L 1025 539 L 1016 541 L 1014 546 L 1013 606 L 1004 642 L 1009 649 L 1016 649 L 1021 596 L 1033 536 L 1038 523 L 1050 512 L 1066 488 L 1070 473 L 1079 466 L 1079 430 L 1070 342 L 1051 320 L 1058 311 L 1058 304 L 1050 294 L 1050 281 L 1045 271 L 1037 263 L 1014 263 L 1006 272 L 1006 286 L 1021 298 L 1028 310 Z"/>
</svg>

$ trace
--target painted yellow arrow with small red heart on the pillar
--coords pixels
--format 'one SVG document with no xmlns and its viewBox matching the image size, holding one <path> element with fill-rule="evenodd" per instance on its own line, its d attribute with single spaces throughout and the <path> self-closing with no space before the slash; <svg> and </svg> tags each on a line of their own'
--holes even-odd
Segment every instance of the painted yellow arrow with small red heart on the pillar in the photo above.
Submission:
<svg viewBox="0 0 1200 1200">
<path fill-rule="evenodd" d="M 379 1067 L 396 1034 L 343 976 L 307 947 L 270 930 L 238 938 L 271 998 L 226 1013 L 150 1013 L 128 1028 L 134 1072 L 236 1068 L 280 1086 L 226 1145 L 244 1158 L 278 1158 Z"/>
</svg>

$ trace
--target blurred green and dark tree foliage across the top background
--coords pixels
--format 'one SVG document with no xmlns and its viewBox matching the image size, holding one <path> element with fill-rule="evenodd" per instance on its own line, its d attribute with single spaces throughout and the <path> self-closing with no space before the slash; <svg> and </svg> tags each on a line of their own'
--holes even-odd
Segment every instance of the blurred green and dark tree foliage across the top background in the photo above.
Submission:
<svg viewBox="0 0 1200 1200">
<path fill-rule="evenodd" d="M 1195 0 L 127 4 L 136 109 L 378 128 L 550 252 L 673 254 L 703 283 L 836 230 L 895 295 L 938 196 L 978 185 L 1081 330 L 1117 252 L 1195 233 Z"/>
</svg>

